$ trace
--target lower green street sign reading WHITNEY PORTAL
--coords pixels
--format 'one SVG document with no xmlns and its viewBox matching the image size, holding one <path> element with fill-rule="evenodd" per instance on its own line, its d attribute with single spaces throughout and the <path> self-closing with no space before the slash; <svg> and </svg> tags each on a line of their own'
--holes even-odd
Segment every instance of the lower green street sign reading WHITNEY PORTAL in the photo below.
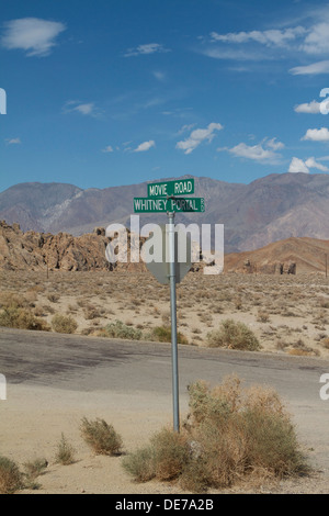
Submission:
<svg viewBox="0 0 329 516">
<path fill-rule="evenodd" d="M 134 213 L 204 212 L 204 198 L 134 198 Z"/>
</svg>

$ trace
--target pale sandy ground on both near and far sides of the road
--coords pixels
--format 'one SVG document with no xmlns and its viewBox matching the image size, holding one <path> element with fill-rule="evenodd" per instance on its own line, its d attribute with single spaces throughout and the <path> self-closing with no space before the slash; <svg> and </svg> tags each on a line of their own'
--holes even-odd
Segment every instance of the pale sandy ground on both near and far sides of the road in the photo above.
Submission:
<svg viewBox="0 0 329 516">
<path fill-rule="evenodd" d="M 0 293 L 25 296 L 31 310 L 48 324 L 56 313 L 70 314 L 78 323 L 77 333 L 97 335 L 115 319 L 144 334 L 169 323 L 169 290 L 148 274 L 50 272 L 46 278 L 1 272 L 0 280 Z M 211 278 L 190 273 L 178 289 L 179 330 L 194 346 L 205 346 L 206 334 L 229 317 L 245 322 L 264 351 L 327 359 L 328 309 L 329 281 L 320 276 Z M 94 456 L 79 431 L 87 414 L 115 420 L 125 452 L 133 451 L 170 424 L 171 400 L 149 394 L 146 410 L 138 392 L 109 396 L 103 391 L 82 393 L 26 384 L 10 385 L 8 395 L 10 403 L 0 402 L 1 455 L 20 465 L 39 457 L 48 460 L 35 493 L 180 493 L 168 483 L 135 483 L 122 468 L 122 457 Z M 61 433 L 76 448 L 76 462 L 70 465 L 55 463 Z M 246 486 L 227 492 L 243 491 Z M 264 483 L 247 492 L 329 493 L 329 474 L 315 472 L 307 479 L 271 486 Z"/>
</svg>

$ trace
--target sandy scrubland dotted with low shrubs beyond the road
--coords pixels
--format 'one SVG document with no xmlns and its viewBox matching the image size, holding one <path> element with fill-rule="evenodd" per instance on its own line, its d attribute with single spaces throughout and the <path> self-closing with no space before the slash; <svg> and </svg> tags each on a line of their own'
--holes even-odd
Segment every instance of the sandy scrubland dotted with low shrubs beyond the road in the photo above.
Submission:
<svg viewBox="0 0 329 516">
<path fill-rule="evenodd" d="M 0 284 L 0 326 L 170 341 L 169 287 L 148 272 L 1 271 Z M 322 274 L 190 272 L 177 294 L 181 344 L 329 356 Z M 225 327 L 247 345 L 223 341 Z"/>
</svg>

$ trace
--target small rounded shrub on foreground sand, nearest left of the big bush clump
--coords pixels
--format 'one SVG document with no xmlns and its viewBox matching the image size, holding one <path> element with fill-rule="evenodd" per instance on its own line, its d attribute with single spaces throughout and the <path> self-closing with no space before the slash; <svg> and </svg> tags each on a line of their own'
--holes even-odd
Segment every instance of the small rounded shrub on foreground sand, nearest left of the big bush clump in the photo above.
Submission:
<svg viewBox="0 0 329 516">
<path fill-rule="evenodd" d="M 83 439 L 95 453 L 107 456 L 121 453 L 122 437 L 104 419 L 88 420 L 83 417 L 80 429 Z"/>
</svg>

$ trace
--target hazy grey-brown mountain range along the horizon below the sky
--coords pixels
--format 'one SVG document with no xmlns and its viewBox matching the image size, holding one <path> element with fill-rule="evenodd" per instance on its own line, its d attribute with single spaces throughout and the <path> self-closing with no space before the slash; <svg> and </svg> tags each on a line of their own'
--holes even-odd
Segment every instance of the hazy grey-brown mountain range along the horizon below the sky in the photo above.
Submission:
<svg viewBox="0 0 329 516">
<path fill-rule="evenodd" d="M 189 178 L 192 176 L 183 176 Z M 164 178 L 161 181 L 178 179 Z M 224 224 L 225 253 L 253 250 L 290 237 L 329 239 L 329 176 L 272 173 L 249 184 L 195 177 L 204 213 L 179 213 L 183 224 Z M 134 197 L 147 197 L 147 182 L 81 189 L 66 183 L 27 182 L 0 193 L 0 220 L 23 232 L 79 236 L 113 222 L 129 226 Z M 164 223 L 163 214 L 141 214 L 140 225 Z"/>
</svg>

